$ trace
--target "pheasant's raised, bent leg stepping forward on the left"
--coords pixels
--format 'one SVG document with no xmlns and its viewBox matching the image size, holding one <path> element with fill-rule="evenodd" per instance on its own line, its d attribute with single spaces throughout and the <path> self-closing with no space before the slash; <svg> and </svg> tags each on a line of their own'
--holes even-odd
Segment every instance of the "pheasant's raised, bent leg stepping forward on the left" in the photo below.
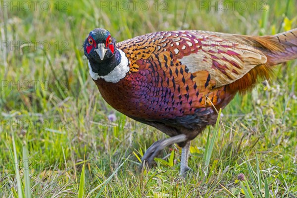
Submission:
<svg viewBox="0 0 297 198">
<path fill-rule="evenodd" d="M 148 164 L 148 167 L 151 166 L 154 157 L 165 147 L 173 145 L 175 143 L 185 142 L 187 137 L 185 134 L 180 134 L 171 138 L 167 138 L 165 140 L 160 140 L 153 143 L 146 151 L 142 158 L 143 164 Z"/>
</svg>

